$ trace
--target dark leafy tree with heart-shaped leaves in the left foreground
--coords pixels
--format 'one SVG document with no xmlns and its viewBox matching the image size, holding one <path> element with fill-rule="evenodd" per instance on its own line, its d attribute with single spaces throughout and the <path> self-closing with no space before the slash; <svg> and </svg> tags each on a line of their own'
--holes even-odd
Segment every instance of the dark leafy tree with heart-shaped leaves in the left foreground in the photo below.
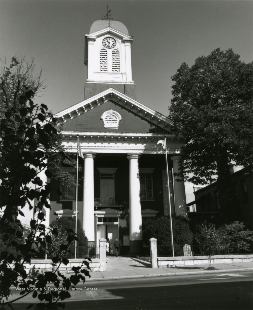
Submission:
<svg viewBox="0 0 253 310">
<path fill-rule="evenodd" d="M 11 74 L 4 77 L 1 75 L 0 79 L 1 87 L 6 87 L 6 79 L 11 80 L 12 76 Z M 24 93 L 21 94 L 19 89 L 25 89 Z M 27 89 L 26 85 L 21 84 L 21 79 L 18 79 L 17 84 L 13 86 L 12 94 L 13 98 L 8 97 L 12 98 L 8 101 L 1 88 L 0 98 L 6 100 L 6 102 L 1 101 L 5 103 L 5 107 L 0 122 L 0 208 L 3 210 L 0 225 L 3 242 L 0 254 L 1 305 L 11 305 L 15 300 L 26 296 L 31 292 L 29 290 L 31 286 L 44 290 L 47 283 L 53 282 L 58 287 L 60 282 L 63 282 L 63 286 L 67 288 L 76 285 L 80 280 L 85 281 L 84 275 L 89 275 L 86 269 L 79 267 L 72 268 L 75 275 L 70 279 L 66 279 L 58 272 L 60 263 L 68 263 L 66 253 L 71 242 L 77 238 L 70 231 L 67 244 L 62 244 L 63 257 L 52 258 L 55 271 L 45 272 L 36 279 L 27 277 L 24 264 L 30 263 L 31 255 L 36 253 L 34 245 L 37 248 L 38 246 L 46 248 L 47 244 L 52 243 L 52 237 L 46 232 L 43 224 L 44 208 L 50 208 L 48 195 L 52 188 L 50 184 L 43 184 L 40 172 L 44 171 L 48 177 L 53 177 L 53 171 L 48 169 L 47 160 L 52 158 L 52 154 L 64 158 L 65 153 L 64 149 L 60 148 L 60 135 L 55 127 L 56 119 L 51 112 L 47 112 L 45 104 L 34 103 L 34 91 Z M 56 141 L 58 142 L 55 143 Z M 26 204 L 32 210 L 31 201 L 34 199 L 37 201 L 38 216 L 31 220 L 31 232 L 24 242 L 24 227 L 17 219 L 17 215 L 24 216 L 22 208 Z M 58 234 L 56 228 L 52 230 L 52 234 Z M 89 268 L 86 260 L 83 265 Z M 19 286 L 26 291 L 21 292 L 19 298 L 8 301 L 11 285 Z M 36 304 L 35 309 L 57 309 L 57 307 L 63 307 L 59 300 L 69 298 L 70 294 L 67 291 L 33 294 L 34 298 L 37 296 L 40 303 Z M 7 301 L 4 302 L 3 298 Z"/>
</svg>

